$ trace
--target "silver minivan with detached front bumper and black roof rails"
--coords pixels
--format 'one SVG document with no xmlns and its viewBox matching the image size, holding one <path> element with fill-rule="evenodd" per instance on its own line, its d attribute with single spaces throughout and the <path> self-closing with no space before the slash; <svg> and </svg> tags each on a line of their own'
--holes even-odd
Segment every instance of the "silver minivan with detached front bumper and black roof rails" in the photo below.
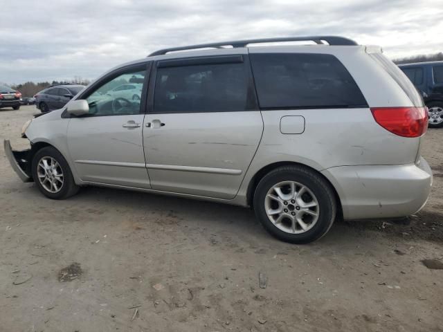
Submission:
<svg viewBox="0 0 443 332">
<path fill-rule="evenodd" d="M 305 40 L 317 45 L 257 46 Z M 132 77 L 140 99 L 115 90 Z M 307 243 L 338 216 L 420 210 L 432 185 L 426 127 L 421 96 L 381 48 L 254 39 L 114 68 L 28 122 L 29 150 L 6 140 L 5 151 L 50 199 L 100 185 L 251 206 L 275 237 Z"/>
</svg>

